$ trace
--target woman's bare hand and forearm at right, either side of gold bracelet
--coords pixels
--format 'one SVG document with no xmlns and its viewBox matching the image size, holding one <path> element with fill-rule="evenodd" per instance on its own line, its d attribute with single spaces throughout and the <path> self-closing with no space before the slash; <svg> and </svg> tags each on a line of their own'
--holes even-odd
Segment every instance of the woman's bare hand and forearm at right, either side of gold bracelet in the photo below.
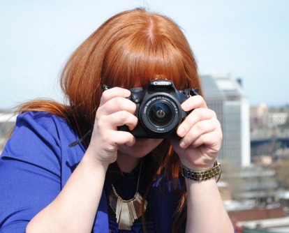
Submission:
<svg viewBox="0 0 289 233">
<path fill-rule="evenodd" d="M 181 107 L 193 110 L 181 123 L 177 134 L 180 142 L 172 141 L 181 164 L 194 171 L 205 171 L 213 167 L 221 148 L 221 126 L 216 114 L 207 108 L 201 96 L 188 98 Z M 218 192 L 215 179 L 192 181 L 186 179 L 187 221 L 186 232 L 234 232 L 228 213 Z"/>
</svg>

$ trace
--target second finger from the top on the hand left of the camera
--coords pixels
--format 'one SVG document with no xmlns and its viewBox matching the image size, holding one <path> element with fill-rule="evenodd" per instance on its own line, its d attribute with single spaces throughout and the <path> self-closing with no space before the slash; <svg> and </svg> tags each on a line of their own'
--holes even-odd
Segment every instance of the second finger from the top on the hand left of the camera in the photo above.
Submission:
<svg viewBox="0 0 289 233">
<path fill-rule="evenodd" d="M 121 110 L 125 110 L 134 114 L 136 110 L 136 105 L 127 98 L 114 97 L 103 103 L 101 107 L 98 107 L 98 114 L 108 115 Z"/>
</svg>

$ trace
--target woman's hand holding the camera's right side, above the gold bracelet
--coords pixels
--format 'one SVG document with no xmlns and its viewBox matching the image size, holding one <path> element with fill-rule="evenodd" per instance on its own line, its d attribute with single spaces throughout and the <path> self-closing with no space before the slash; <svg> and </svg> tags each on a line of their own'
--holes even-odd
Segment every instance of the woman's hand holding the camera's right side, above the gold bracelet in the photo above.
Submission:
<svg viewBox="0 0 289 233">
<path fill-rule="evenodd" d="M 177 129 L 177 135 L 182 138 L 172 140 L 173 149 L 186 167 L 196 171 L 212 168 L 223 139 L 216 113 L 207 108 L 202 96 L 188 98 L 181 108 L 193 111 Z"/>
</svg>

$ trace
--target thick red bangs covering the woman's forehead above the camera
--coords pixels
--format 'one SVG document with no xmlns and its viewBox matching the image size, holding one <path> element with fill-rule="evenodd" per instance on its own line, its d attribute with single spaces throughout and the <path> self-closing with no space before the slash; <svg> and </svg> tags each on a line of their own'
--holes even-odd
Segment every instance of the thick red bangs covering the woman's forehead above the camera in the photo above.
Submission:
<svg viewBox="0 0 289 233">
<path fill-rule="evenodd" d="M 192 63 L 191 63 L 192 64 Z M 122 38 L 110 47 L 102 82 L 112 87 L 147 87 L 149 81 L 167 79 L 179 90 L 191 87 L 184 54 L 163 36 L 151 40 L 142 32 Z"/>
</svg>

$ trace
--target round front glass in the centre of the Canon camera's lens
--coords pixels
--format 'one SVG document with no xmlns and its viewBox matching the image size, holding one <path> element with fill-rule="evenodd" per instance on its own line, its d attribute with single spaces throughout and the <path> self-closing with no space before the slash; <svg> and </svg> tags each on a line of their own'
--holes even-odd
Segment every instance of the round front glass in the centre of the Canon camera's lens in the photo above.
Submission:
<svg viewBox="0 0 289 233">
<path fill-rule="evenodd" d="M 148 109 L 148 120 L 156 127 L 168 126 L 174 119 L 172 105 L 165 100 L 152 103 Z"/>
</svg>

